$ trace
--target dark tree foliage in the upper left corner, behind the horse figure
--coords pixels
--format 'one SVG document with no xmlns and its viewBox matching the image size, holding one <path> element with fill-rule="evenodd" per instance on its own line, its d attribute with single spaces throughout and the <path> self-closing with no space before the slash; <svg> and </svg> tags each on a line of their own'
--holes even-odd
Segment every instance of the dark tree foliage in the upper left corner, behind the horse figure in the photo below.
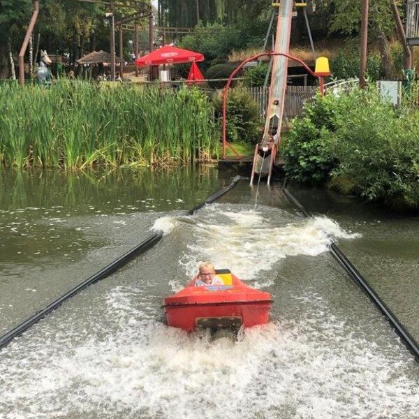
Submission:
<svg viewBox="0 0 419 419">
<path fill-rule="evenodd" d="M 151 3 L 150 0 L 141 1 Z M 82 0 L 41 0 L 39 3 L 34 30 L 35 51 L 42 48 L 50 54 L 67 52 L 71 62 L 82 57 L 83 52 L 96 48 L 109 51 L 109 29 L 105 24 L 109 6 Z M 115 8 L 116 20 L 138 10 L 133 0 L 120 3 L 133 6 Z M 10 75 L 9 58 L 17 57 L 32 11 L 32 0 L 0 1 L 0 36 L 6 41 L 0 44 L 0 76 Z"/>
</svg>

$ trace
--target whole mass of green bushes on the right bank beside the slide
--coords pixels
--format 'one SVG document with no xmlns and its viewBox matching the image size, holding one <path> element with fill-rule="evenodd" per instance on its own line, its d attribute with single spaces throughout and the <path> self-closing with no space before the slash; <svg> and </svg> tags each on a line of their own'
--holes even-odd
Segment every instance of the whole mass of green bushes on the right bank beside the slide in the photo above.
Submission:
<svg viewBox="0 0 419 419">
<path fill-rule="evenodd" d="M 419 84 L 394 108 L 374 87 L 317 97 L 295 119 L 288 177 L 328 184 L 393 210 L 419 210 Z"/>
</svg>

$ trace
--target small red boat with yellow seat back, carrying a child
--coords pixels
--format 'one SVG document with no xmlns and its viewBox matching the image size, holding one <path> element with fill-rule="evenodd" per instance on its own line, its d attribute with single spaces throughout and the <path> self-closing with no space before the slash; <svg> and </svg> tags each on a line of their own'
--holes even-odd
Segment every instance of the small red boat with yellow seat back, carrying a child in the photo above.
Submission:
<svg viewBox="0 0 419 419">
<path fill-rule="evenodd" d="M 200 328 L 251 328 L 266 324 L 272 303 L 270 293 L 255 290 L 230 270 L 216 270 L 223 285 L 195 286 L 192 279 L 182 291 L 164 300 L 168 325 L 191 332 Z"/>
</svg>

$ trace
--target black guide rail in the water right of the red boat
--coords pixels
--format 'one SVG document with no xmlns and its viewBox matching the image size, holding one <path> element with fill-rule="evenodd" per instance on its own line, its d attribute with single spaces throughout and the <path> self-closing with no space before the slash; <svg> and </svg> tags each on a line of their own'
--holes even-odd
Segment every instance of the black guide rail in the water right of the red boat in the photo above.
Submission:
<svg viewBox="0 0 419 419">
<path fill-rule="evenodd" d="M 284 184 L 282 185 L 282 191 L 284 191 L 286 197 L 295 205 L 295 207 L 304 214 L 304 216 L 310 217 L 311 214 L 304 208 L 303 205 L 293 196 L 293 194 L 288 191 L 286 188 L 286 180 Z M 413 356 L 416 358 L 416 360 L 419 362 L 419 345 L 418 342 L 416 342 L 415 339 L 411 336 L 411 334 L 404 328 L 404 325 L 402 322 L 399 321 L 399 319 L 395 316 L 395 314 L 392 313 L 390 308 L 381 300 L 380 296 L 374 291 L 374 288 L 372 288 L 371 285 L 368 284 L 367 280 L 362 277 L 362 274 L 358 272 L 358 270 L 355 268 L 355 266 L 351 263 L 351 261 L 345 256 L 345 254 L 337 247 L 335 242 L 332 242 L 330 244 L 329 251 L 333 258 L 337 260 L 337 263 L 341 265 L 341 267 L 344 268 L 346 273 L 353 279 L 355 284 L 357 284 L 362 291 L 364 291 L 365 294 L 369 297 L 369 299 L 376 305 L 376 307 L 381 311 L 381 313 L 387 318 L 390 325 L 392 325 L 392 328 L 395 329 L 397 332 L 397 335 L 402 339 L 404 345 L 406 348 L 411 351 Z"/>
</svg>

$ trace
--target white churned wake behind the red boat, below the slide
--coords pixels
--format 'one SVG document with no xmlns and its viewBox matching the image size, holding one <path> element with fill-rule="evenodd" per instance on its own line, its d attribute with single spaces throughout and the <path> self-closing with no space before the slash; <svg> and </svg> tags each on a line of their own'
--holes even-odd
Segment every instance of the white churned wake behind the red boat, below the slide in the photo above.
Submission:
<svg viewBox="0 0 419 419">
<path fill-rule="evenodd" d="M 193 226 L 196 241 L 189 245 L 189 254 L 180 262 L 189 276 L 196 273 L 199 260 L 211 260 L 216 267 L 228 267 L 241 279 L 256 279 L 260 271 L 270 270 L 282 258 L 317 256 L 327 251 L 335 238 L 360 236 L 347 233 L 325 216 L 279 225 L 263 212 L 221 208 L 221 205 L 214 206 L 207 214 L 200 215 Z M 219 221 L 220 216 L 223 221 Z"/>
</svg>

